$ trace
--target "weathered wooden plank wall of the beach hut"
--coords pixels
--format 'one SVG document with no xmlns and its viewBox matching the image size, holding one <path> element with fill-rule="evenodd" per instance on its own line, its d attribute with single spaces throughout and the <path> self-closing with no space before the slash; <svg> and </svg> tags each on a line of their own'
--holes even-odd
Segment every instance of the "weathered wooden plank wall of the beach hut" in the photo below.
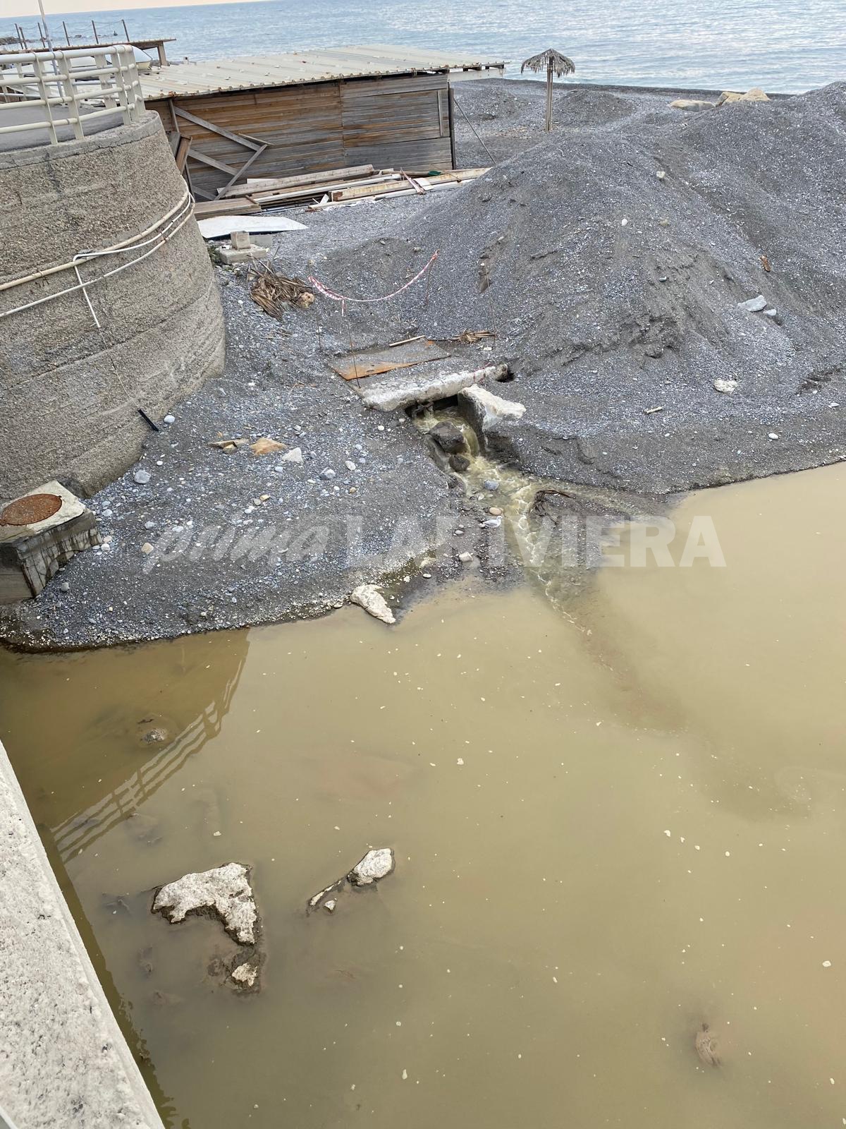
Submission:
<svg viewBox="0 0 846 1129">
<path fill-rule="evenodd" d="M 447 75 L 314 82 L 147 105 L 161 117 L 174 150 L 180 137 L 191 139 L 186 169 L 201 200 L 214 199 L 233 177 L 362 164 L 452 167 Z"/>
</svg>

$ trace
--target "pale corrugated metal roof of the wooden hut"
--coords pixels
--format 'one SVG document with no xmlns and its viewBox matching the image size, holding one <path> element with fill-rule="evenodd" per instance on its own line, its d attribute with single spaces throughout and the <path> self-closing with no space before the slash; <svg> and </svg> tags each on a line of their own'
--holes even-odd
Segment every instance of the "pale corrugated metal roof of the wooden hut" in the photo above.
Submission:
<svg viewBox="0 0 846 1129">
<path fill-rule="evenodd" d="M 502 68 L 494 59 L 468 58 L 459 52 L 416 51 L 374 43 L 335 50 L 298 51 L 283 55 L 241 55 L 196 63 L 171 63 L 141 75 L 144 98 L 180 98 L 221 90 L 299 86 L 340 78 L 407 75 L 416 71 Z"/>
</svg>

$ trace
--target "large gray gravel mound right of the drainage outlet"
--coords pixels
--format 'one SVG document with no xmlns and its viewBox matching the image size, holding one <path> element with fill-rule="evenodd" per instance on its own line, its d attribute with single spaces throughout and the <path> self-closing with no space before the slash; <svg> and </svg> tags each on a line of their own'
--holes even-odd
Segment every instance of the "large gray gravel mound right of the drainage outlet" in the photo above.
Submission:
<svg viewBox="0 0 846 1129">
<path fill-rule="evenodd" d="M 331 256 L 329 283 L 385 292 L 439 250 L 425 310 L 413 288 L 391 316 L 496 330 L 526 470 L 658 493 L 843 457 L 846 86 L 696 114 L 559 100 L 548 141 Z M 385 318 L 351 312 L 377 340 Z"/>
</svg>

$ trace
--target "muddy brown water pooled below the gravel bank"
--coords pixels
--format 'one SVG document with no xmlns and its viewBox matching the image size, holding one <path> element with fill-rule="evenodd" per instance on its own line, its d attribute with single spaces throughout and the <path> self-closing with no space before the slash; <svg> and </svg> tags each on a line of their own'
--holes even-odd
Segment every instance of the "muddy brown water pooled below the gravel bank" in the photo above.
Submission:
<svg viewBox="0 0 846 1129">
<path fill-rule="evenodd" d="M 845 491 L 694 496 L 677 522 L 712 516 L 725 568 L 605 569 L 566 609 L 468 578 L 391 629 L 0 656 L 2 738 L 168 1123 L 846 1123 Z M 306 916 L 368 844 L 396 872 Z M 150 913 L 230 860 L 258 995 L 217 974 L 215 921 Z"/>
</svg>

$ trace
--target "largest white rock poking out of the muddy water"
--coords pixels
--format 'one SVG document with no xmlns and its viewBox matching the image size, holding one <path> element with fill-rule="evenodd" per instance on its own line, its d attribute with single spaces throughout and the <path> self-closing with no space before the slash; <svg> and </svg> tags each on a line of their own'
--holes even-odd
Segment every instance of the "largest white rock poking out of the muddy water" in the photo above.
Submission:
<svg viewBox="0 0 846 1129">
<path fill-rule="evenodd" d="M 255 944 L 258 911 L 247 875 L 240 863 L 227 863 L 213 870 L 186 874 L 169 882 L 156 894 L 153 913 L 161 912 L 168 921 L 184 921 L 188 913 L 209 910 L 217 913 L 223 928 L 241 945 Z"/>
</svg>

